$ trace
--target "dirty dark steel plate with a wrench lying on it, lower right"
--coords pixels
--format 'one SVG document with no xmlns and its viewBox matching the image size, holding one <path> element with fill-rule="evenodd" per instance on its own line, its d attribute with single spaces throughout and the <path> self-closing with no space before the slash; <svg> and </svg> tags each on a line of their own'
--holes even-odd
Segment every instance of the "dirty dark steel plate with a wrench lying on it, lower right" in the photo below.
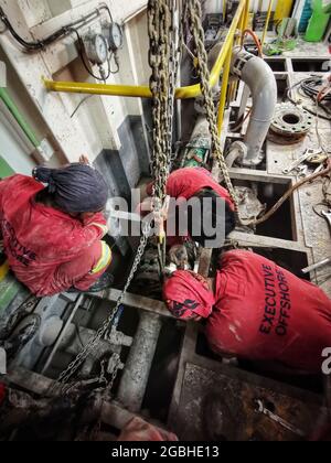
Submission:
<svg viewBox="0 0 331 463">
<path fill-rule="evenodd" d="M 296 441 L 299 435 L 255 412 L 255 400 L 309 435 L 320 409 L 235 375 L 188 363 L 174 431 L 183 441 Z"/>
</svg>

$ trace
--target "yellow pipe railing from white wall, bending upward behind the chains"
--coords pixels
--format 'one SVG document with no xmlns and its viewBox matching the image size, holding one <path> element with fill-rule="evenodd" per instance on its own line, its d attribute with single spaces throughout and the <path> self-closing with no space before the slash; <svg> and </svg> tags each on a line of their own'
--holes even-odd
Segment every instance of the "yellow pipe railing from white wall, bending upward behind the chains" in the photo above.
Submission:
<svg viewBox="0 0 331 463">
<path fill-rule="evenodd" d="M 220 52 L 217 61 L 211 72 L 211 87 L 214 87 L 220 78 L 221 71 L 224 66 L 225 60 L 232 49 L 233 37 L 238 28 L 239 21 L 243 18 L 245 8 L 247 8 L 249 0 L 241 0 L 237 8 L 236 14 L 232 21 L 227 36 Z M 73 83 L 73 82 L 54 82 L 44 79 L 45 87 L 51 91 L 64 91 L 64 93 L 76 93 L 76 94 L 89 94 L 89 95 L 105 95 L 105 96 L 122 96 L 122 97 L 140 97 L 151 98 L 151 91 L 147 86 L 134 86 L 134 85 L 105 85 L 105 84 L 90 84 L 90 83 Z M 175 90 L 177 99 L 196 98 L 201 96 L 200 84 L 191 85 L 188 87 L 180 87 Z"/>
</svg>

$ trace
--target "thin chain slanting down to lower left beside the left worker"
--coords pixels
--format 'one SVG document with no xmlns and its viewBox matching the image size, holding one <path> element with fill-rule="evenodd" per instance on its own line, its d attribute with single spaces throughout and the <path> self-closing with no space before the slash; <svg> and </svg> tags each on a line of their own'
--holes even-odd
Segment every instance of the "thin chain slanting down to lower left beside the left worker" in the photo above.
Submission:
<svg viewBox="0 0 331 463">
<path fill-rule="evenodd" d="M 116 306 L 110 311 L 108 317 L 104 321 L 103 325 L 99 327 L 99 330 L 97 331 L 96 335 L 86 344 L 86 346 L 83 348 L 83 351 L 77 355 L 77 357 L 68 365 L 68 367 L 66 368 L 65 372 L 63 372 L 57 381 L 52 386 L 51 391 L 55 392 L 56 390 L 56 385 L 60 384 L 61 385 L 61 391 L 66 394 L 68 392 L 70 389 L 73 388 L 72 385 L 68 385 L 70 379 L 74 376 L 74 374 L 77 372 L 77 369 L 81 367 L 81 365 L 86 360 L 87 356 L 93 353 L 93 351 L 97 347 L 99 341 L 102 338 L 104 338 L 104 336 L 107 334 L 108 330 L 110 329 L 113 321 L 120 308 L 120 305 L 122 304 L 125 294 L 127 293 L 131 281 L 136 274 L 136 271 L 139 267 L 139 263 L 141 261 L 141 257 L 143 256 L 147 243 L 148 243 L 148 238 L 149 238 L 149 234 L 150 234 L 150 223 L 147 222 L 142 222 L 142 237 L 140 240 L 140 245 L 139 248 L 137 250 L 137 255 L 129 274 L 129 278 L 126 282 L 126 286 L 117 301 Z M 115 368 L 113 377 L 111 377 L 111 381 L 114 383 L 115 378 L 116 378 L 116 374 L 117 374 L 118 368 Z"/>
</svg>

